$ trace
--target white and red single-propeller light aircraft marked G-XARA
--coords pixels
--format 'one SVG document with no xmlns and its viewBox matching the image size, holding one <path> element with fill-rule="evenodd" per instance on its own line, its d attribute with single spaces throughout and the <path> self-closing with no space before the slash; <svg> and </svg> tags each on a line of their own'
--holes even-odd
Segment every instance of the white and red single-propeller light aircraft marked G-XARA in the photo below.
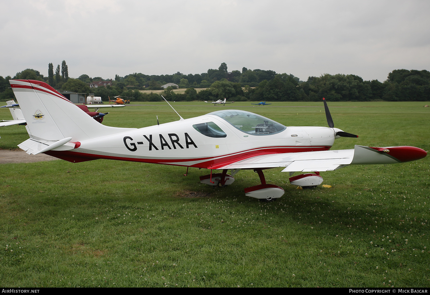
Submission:
<svg viewBox="0 0 430 295">
<path fill-rule="evenodd" d="M 233 109 L 140 129 L 116 128 L 96 122 L 44 82 L 9 82 L 30 135 L 18 146 L 28 154 L 45 153 L 70 162 L 112 159 L 206 168 L 210 174 L 201 176 L 200 182 L 211 186 L 230 185 L 238 171 L 252 169 L 261 184 L 246 188 L 245 193 L 263 200 L 284 194 L 281 187 L 266 183 L 265 169 L 283 167 L 290 176 L 296 171 L 318 171 L 289 179 L 293 185 L 317 186 L 322 183 L 319 171 L 350 164 L 402 163 L 427 155 L 413 146 L 329 150 L 336 138 L 357 136 L 334 128 L 325 100 L 329 128 L 286 127 Z"/>
</svg>

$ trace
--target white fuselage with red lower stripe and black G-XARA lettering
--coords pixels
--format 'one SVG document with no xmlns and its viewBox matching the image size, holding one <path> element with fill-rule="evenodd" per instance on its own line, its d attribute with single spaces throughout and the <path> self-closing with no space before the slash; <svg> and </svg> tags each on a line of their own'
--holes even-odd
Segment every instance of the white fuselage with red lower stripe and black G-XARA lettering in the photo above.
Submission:
<svg viewBox="0 0 430 295">
<path fill-rule="evenodd" d="M 215 134 L 203 131 L 205 135 L 202 126 L 207 128 L 208 125 L 217 126 L 221 131 L 214 131 Z M 74 157 L 217 169 L 226 163 L 257 155 L 327 150 L 335 140 L 333 128 L 326 127 L 286 127 L 274 134 L 250 134 L 241 128 L 219 116 L 207 114 L 83 140 L 79 147 L 61 153 Z M 258 131 L 261 128 L 258 127 Z"/>
</svg>

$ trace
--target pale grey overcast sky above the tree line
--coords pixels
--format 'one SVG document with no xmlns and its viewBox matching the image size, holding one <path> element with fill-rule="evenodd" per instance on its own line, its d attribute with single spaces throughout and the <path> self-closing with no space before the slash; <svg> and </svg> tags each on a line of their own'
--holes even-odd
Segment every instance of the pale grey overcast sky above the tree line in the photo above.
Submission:
<svg viewBox="0 0 430 295">
<path fill-rule="evenodd" d="M 0 1 L 0 75 L 430 70 L 430 1 Z"/>
</svg>

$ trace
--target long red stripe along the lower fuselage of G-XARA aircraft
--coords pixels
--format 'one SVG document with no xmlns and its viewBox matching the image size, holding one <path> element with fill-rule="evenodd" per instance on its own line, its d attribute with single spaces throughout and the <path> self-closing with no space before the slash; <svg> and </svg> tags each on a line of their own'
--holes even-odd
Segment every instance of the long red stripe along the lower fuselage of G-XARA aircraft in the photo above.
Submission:
<svg viewBox="0 0 430 295">
<path fill-rule="evenodd" d="M 94 155 L 94 154 L 88 154 L 83 152 L 72 152 L 72 151 L 49 151 L 49 152 L 46 152 L 46 154 L 51 155 L 53 157 L 62 158 L 70 162 L 89 161 L 89 159 L 94 159 L 94 160 L 108 159 L 108 160 L 153 163 L 153 164 L 166 164 L 166 165 L 174 165 L 174 166 L 186 166 L 186 167 L 195 167 L 195 168 L 217 169 L 218 167 L 223 167 L 225 165 L 235 163 L 237 161 L 246 160 L 248 158 L 252 158 L 259 155 L 272 155 L 272 154 L 281 154 L 281 153 L 288 153 L 288 152 L 326 151 L 328 149 L 330 149 L 330 146 L 322 146 L 320 148 L 307 147 L 307 148 L 301 148 L 301 149 L 298 149 L 297 147 L 282 147 L 282 148 L 265 147 L 257 151 L 249 151 L 249 152 L 243 151 L 240 154 L 236 154 L 236 155 L 226 155 L 222 158 L 205 157 L 205 158 L 189 158 L 189 159 L 128 158 L 128 157 L 115 157 L 115 156 L 108 156 L 108 155 Z M 85 160 L 83 160 L 83 158 L 85 158 Z M 208 159 L 209 161 L 205 161 Z M 201 161 L 201 162 L 193 165 L 172 164 L 172 163 L 190 162 L 190 161 Z"/>
</svg>

